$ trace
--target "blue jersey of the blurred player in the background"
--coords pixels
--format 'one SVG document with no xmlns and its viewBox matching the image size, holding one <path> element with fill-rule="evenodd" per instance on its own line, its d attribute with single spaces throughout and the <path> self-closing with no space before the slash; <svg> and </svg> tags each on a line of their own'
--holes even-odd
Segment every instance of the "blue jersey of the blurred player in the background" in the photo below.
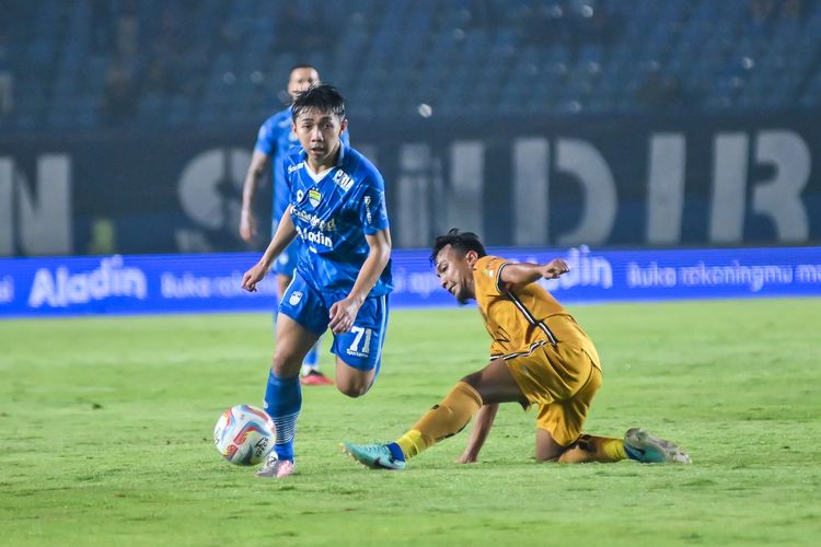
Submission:
<svg viewBox="0 0 821 547">
<path fill-rule="evenodd" d="M 346 129 L 343 133 L 343 142 L 348 143 L 348 130 Z M 271 156 L 273 167 L 273 194 L 274 194 L 274 207 L 271 209 L 273 217 L 273 232 L 276 232 L 277 225 L 285 213 L 286 207 L 289 203 L 289 191 L 288 185 L 285 181 L 285 170 L 282 168 L 282 160 L 285 154 L 294 147 L 299 147 L 299 139 L 291 131 L 291 108 L 288 107 L 285 110 L 278 112 L 274 116 L 265 120 L 263 126 L 259 128 L 259 132 L 256 137 L 256 144 L 254 148 L 259 152 Z M 271 232 L 271 235 L 273 235 Z"/>
</svg>

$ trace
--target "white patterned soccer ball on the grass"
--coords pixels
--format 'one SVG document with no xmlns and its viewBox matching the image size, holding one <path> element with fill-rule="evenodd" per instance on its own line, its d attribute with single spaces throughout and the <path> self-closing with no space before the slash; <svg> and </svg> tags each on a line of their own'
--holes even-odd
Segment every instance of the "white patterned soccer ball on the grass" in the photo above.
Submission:
<svg viewBox="0 0 821 547">
<path fill-rule="evenodd" d="M 229 408 L 213 428 L 213 444 L 235 465 L 255 465 L 274 447 L 276 428 L 264 410 L 251 405 Z"/>
</svg>

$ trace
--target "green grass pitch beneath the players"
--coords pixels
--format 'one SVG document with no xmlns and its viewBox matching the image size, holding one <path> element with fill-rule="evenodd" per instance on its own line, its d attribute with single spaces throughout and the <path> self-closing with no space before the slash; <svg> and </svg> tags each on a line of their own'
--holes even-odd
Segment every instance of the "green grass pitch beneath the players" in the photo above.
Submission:
<svg viewBox="0 0 821 547">
<path fill-rule="evenodd" d="M 0 545 L 818 545 L 821 300 L 571 311 L 604 364 L 589 431 L 641 426 L 693 465 L 537 465 L 517 406 L 475 465 L 452 463 L 466 433 L 404 473 L 343 456 L 484 365 L 474 310 L 394 312 L 362 399 L 304 389 L 282 481 L 211 443 L 262 403 L 268 316 L 0 322 Z"/>
</svg>

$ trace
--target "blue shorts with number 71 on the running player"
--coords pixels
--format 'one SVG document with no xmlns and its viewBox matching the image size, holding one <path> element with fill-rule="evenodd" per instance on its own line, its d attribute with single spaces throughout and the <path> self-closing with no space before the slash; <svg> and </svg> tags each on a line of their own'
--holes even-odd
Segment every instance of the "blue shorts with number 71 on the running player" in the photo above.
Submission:
<svg viewBox="0 0 821 547">
<path fill-rule="evenodd" d="M 320 292 L 294 272 L 293 281 L 282 294 L 279 313 L 302 327 L 323 334 L 327 330 L 331 306 L 347 296 L 345 292 Z M 334 335 L 331 352 L 360 371 L 379 368 L 388 329 L 388 295 L 365 299 L 349 333 Z"/>
</svg>

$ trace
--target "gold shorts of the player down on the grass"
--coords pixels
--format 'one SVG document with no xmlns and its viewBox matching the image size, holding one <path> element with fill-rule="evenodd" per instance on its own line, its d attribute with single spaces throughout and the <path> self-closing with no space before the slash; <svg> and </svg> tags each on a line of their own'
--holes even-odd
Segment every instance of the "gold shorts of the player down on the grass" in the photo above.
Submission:
<svg viewBox="0 0 821 547">
<path fill-rule="evenodd" d="M 524 397 L 539 408 L 536 427 L 562 446 L 576 441 L 602 383 L 599 356 L 589 339 L 545 344 L 506 362 Z"/>
</svg>

